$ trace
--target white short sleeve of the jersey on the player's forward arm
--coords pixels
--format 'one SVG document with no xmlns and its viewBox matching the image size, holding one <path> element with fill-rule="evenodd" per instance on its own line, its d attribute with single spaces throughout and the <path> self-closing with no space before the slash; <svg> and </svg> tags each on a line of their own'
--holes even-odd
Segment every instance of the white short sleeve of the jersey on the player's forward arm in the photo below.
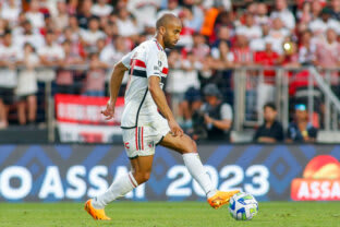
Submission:
<svg viewBox="0 0 340 227">
<path fill-rule="evenodd" d="M 149 48 L 145 55 L 146 75 L 147 77 L 156 75 L 160 77 L 161 61 L 159 59 L 159 51 L 157 49 Z"/>
</svg>

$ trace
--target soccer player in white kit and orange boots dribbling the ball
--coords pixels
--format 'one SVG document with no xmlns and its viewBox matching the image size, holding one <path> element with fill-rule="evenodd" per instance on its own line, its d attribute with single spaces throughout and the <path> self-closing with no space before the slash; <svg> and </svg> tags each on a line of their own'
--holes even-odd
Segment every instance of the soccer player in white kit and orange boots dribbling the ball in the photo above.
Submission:
<svg viewBox="0 0 340 227">
<path fill-rule="evenodd" d="M 205 191 L 207 201 L 214 208 L 229 203 L 229 199 L 239 192 L 222 192 L 212 186 L 204 170 L 195 142 L 183 133 L 167 104 L 161 83 L 168 74 L 165 48 L 172 48 L 178 43 L 181 21 L 167 13 L 157 21 L 156 28 L 155 38 L 142 43 L 124 56 L 114 65 L 111 75 L 110 99 L 107 108 L 101 111 L 107 120 L 113 118 L 124 72 L 129 70 L 130 73 L 121 128 L 132 170 L 113 181 L 104 194 L 85 203 L 85 210 L 95 219 L 110 219 L 105 214 L 105 206 L 149 179 L 157 144 L 182 154 L 189 172 Z"/>
</svg>

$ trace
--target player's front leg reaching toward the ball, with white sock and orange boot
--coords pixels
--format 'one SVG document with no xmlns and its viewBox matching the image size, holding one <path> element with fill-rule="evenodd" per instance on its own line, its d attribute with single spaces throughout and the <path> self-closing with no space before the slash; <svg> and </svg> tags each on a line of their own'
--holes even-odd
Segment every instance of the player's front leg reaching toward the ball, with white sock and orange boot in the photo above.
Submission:
<svg viewBox="0 0 340 227">
<path fill-rule="evenodd" d="M 212 182 L 199 159 L 197 145 L 189 135 L 184 134 L 183 136 L 173 136 L 168 133 L 161 141 L 160 145 L 182 154 L 189 172 L 205 191 L 208 203 L 214 208 L 219 208 L 221 205 L 229 203 L 230 198 L 240 192 L 239 190 L 221 192 L 212 186 Z"/>
</svg>

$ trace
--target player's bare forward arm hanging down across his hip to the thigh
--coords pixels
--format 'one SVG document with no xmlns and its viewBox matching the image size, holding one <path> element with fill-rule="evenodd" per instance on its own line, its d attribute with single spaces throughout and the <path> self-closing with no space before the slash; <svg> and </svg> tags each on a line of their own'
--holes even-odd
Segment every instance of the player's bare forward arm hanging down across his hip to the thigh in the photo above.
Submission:
<svg viewBox="0 0 340 227">
<path fill-rule="evenodd" d="M 157 75 L 151 75 L 148 77 L 148 89 L 153 96 L 154 101 L 156 103 L 159 111 L 168 120 L 170 130 L 174 136 L 183 135 L 183 130 L 175 121 L 172 111 L 167 103 L 166 95 L 159 86 L 160 77 Z"/>
</svg>

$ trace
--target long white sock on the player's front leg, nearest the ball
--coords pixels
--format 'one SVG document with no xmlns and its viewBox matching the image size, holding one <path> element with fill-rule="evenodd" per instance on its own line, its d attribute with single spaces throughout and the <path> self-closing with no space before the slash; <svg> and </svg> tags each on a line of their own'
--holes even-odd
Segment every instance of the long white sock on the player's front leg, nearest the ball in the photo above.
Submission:
<svg viewBox="0 0 340 227">
<path fill-rule="evenodd" d="M 191 176 L 202 187 L 207 198 L 211 198 L 216 192 L 216 188 L 212 186 L 209 175 L 204 170 L 202 162 L 197 153 L 183 154 L 184 164 L 191 174 Z"/>
</svg>

